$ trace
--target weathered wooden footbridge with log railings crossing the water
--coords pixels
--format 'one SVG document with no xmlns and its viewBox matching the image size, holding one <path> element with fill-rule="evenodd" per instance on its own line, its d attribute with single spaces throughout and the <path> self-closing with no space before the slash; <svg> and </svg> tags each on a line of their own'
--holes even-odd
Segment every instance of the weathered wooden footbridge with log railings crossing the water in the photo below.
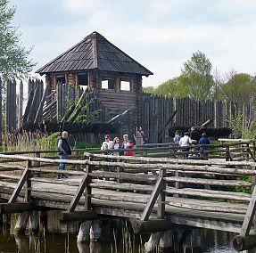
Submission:
<svg viewBox="0 0 256 253">
<path fill-rule="evenodd" d="M 1 214 L 50 208 L 62 210 L 64 222 L 122 217 L 130 219 L 136 233 L 202 227 L 239 234 L 235 248 L 244 249 L 255 241 L 256 208 L 256 163 L 250 145 L 246 150 L 244 161 L 78 150 L 65 160 L 69 178 L 61 180 L 56 174 L 62 160 L 55 151 L 0 154 Z"/>
</svg>

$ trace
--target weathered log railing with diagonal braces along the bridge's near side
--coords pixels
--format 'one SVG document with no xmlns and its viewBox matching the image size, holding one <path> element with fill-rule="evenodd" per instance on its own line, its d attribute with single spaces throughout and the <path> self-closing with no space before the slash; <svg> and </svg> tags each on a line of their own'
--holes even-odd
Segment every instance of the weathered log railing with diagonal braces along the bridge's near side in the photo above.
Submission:
<svg viewBox="0 0 256 253">
<path fill-rule="evenodd" d="M 65 173 L 70 175 L 82 175 L 81 183 L 78 185 L 78 192 L 73 196 L 73 199 L 70 203 L 70 211 L 74 211 L 76 206 L 78 205 L 78 200 L 85 189 L 87 189 L 86 193 L 86 206 L 87 210 L 90 209 L 91 199 L 95 198 L 96 195 L 92 194 L 92 188 L 102 188 L 102 189 L 121 189 L 121 190 L 128 190 L 132 191 L 135 189 L 136 191 L 145 191 L 151 192 L 150 198 L 146 203 L 144 212 L 141 216 L 141 221 L 147 221 L 149 216 L 151 216 L 153 212 L 153 208 L 156 204 L 156 200 L 159 199 L 158 208 L 157 208 L 157 216 L 159 218 L 164 217 L 165 206 L 173 205 L 173 203 L 165 200 L 166 194 L 178 194 L 178 195 L 186 195 L 190 194 L 193 196 L 200 196 L 205 198 L 219 198 L 219 199 L 227 199 L 232 200 L 233 196 L 231 192 L 225 191 L 215 191 L 214 189 L 205 190 L 205 192 L 199 191 L 198 189 L 178 189 L 178 184 L 186 183 L 186 184 L 202 184 L 202 185 L 223 185 L 223 186 L 240 186 L 240 187 L 253 187 L 255 186 L 255 181 L 246 182 L 243 179 L 238 180 L 223 180 L 223 179 L 207 179 L 207 178 L 190 178 L 186 177 L 187 173 L 193 172 L 200 172 L 204 174 L 220 174 L 220 175 L 252 175 L 252 177 L 256 177 L 256 162 L 251 161 L 211 161 L 211 160 L 189 160 L 189 159 L 154 159 L 149 157 L 126 157 L 120 156 L 115 157 L 111 155 L 102 155 L 102 154 L 92 154 L 85 152 L 84 155 L 89 159 L 78 159 L 78 160 L 71 160 L 71 159 L 48 159 L 48 158 L 35 158 L 35 157 L 26 157 L 21 155 L 7 155 L 7 154 L 0 154 L 0 158 L 4 159 L 4 162 L 8 161 L 8 159 L 17 161 L 27 161 L 26 168 L 24 169 L 23 175 L 19 183 L 17 184 L 14 192 L 12 192 L 12 197 L 9 200 L 9 203 L 13 203 L 19 196 L 23 185 L 27 185 L 25 188 L 25 200 L 26 202 L 31 201 L 31 192 L 34 191 L 31 181 L 33 181 L 34 174 L 32 173 L 60 173 L 58 169 L 50 169 L 40 167 L 40 164 L 32 164 L 32 162 L 40 162 L 40 163 L 48 163 L 48 164 L 58 164 L 58 163 L 66 163 L 71 165 L 81 165 L 83 168 L 79 170 L 65 170 Z M 105 160 L 92 160 L 92 159 L 110 159 L 110 161 Z M 121 161 L 120 161 L 121 160 Z M 132 162 L 131 162 L 132 161 Z M 150 162 L 150 164 L 148 163 Z M 1 160 L 0 160 L 1 165 Z M 227 167 L 223 167 L 227 166 Z M 235 167 L 228 167 L 228 166 L 235 166 Z M 239 169 L 237 166 L 250 166 L 252 169 Z M 155 175 L 138 175 L 133 176 L 132 173 L 128 172 L 126 175 L 123 172 L 104 172 L 98 171 L 101 167 L 122 167 L 125 169 L 141 169 L 141 172 L 151 172 L 155 173 Z M 129 171 L 129 170 L 127 170 Z M 185 172 L 185 173 L 184 173 Z M 170 176 L 167 173 L 172 173 Z M 137 184 L 108 184 L 108 182 L 100 181 L 96 182 L 92 179 L 97 177 L 105 177 L 105 176 L 113 176 L 117 179 L 128 179 L 137 181 Z M 4 175 L 0 174 L 0 177 L 4 177 Z M 10 179 L 18 179 L 17 176 L 10 176 Z M 44 180 L 44 179 L 38 179 Z M 144 185 L 140 184 L 140 180 L 146 180 L 150 182 L 155 182 L 155 185 Z M 167 185 L 170 183 L 170 186 Z M 173 184 L 175 184 L 173 186 Z M 168 186 L 168 188 L 167 188 Z M 111 187 L 111 188 L 107 188 Z M 255 189 L 255 187 L 254 187 Z M 44 192 L 44 189 L 36 189 L 37 191 Z M 45 190 L 46 191 L 46 190 Z M 215 191 L 215 192 L 214 192 Z M 255 190 L 256 191 L 256 190 Z M 248 194 L 244 192 L 235 192 L 234 193 L 234 200 L 244 201 L 250 203 L 255 202 L 256 192 L 254 191 L 253 194 Z M 53 192 L 53 193 L 56 193 Z M 250 197 L 252 198 L 250 199 Z M 252 204 L 250 204 L 252 206 Z M 251 207 L 249 206 L 249 207 Z M 190 208 L 190 207 L 188 207 Z M 217 207 L 218 210 L 227 210 L 226 207 Z M 233 210 L 233 212 L 238 212 Z M 251 218 L 254 215 L 254 209 L 248 208 L 247 210 L 248 216 L 250 216 L 250 222 L 244 223 L 243 227 L 246 229 L 246 233 L 248 228 L 251 227 Z M 245 219 L 244 219 L 245 220 Z M 246 235 L 245 233 L 245 235 Z"/>
</svg>

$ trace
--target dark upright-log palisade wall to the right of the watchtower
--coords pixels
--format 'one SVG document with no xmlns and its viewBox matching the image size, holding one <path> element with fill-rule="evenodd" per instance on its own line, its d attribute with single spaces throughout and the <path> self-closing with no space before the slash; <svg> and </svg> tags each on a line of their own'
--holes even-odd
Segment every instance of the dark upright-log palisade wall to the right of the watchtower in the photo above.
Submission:
<svg viewBox="0 0 256 253">
<path fill-rule="evenodd" d="M 244 105 L 244 121 L 246 124 L 252 118 L 254 103 Z M 159 133 L 164 128 L 171 114 L 177 110 L 175 117 L 170 121 L 171 126 L 201 126 L 208 119 L 212 119 L 209 127 L 229 127 L 230 119 L 241 111 L 231 102 L 223 101 L 195 101 L 186 98 L 171 98 L 167 96 L 143 95 L 142 126 L 150 143 L 158 143 Z M 253 116 L 256 119 L 256 116 Z M 244 123 L 244 126 L 246 126 Z M 165 142 L 170 139 L 163 138 Z M 162 140 L 162 141 L 163 141 Z"/>
</svg>

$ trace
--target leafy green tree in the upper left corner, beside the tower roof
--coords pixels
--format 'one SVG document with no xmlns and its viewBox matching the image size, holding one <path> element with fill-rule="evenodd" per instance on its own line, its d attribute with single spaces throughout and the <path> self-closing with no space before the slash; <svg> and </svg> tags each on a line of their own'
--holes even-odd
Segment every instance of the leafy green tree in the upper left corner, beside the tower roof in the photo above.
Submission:
<svg viewBox="0 0 256 253">
<path fill-rule="evenodd" d="M 0 76 L 7 78 L 25 78 L 35 66 L 28 60 L 31 49 L 21 45 L 21 32 L 12 27 L 11 21 L 16 9 L 8 6 L 8 0 L 0 0 Z"/>
</svg>

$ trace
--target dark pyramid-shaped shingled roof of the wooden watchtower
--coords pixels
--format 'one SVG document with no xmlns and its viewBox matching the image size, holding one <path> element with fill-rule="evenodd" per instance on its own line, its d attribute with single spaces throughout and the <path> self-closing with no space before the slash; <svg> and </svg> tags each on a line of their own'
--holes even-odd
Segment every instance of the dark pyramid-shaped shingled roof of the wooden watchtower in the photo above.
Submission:
<svg viewBox="0 0 256 253">
<path fill-rule="evenodd" d="M 77 45 L 45 64 L 36 73 L 41 75 L 53 72 L 98 69 L 101 71 L 122 72 L 142 76 L 153 73 L 140 63 L 112 45 L 106 38 L 93 32 Z"/>
</svg>

